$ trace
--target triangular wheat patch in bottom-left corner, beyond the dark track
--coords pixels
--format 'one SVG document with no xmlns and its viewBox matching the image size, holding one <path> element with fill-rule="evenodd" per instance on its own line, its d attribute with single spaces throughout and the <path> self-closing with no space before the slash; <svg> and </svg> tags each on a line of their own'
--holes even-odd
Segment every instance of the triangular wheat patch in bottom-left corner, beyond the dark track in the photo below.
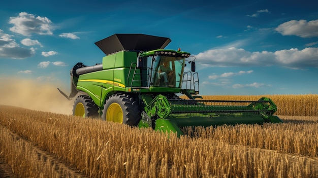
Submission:
<svg viewBox="0 0 318 178">
<path fill-rule="evenodd" d="M 85 177 L 1 125 L 0 135 L 1 154 L 17 177 Z"/>
</svg>

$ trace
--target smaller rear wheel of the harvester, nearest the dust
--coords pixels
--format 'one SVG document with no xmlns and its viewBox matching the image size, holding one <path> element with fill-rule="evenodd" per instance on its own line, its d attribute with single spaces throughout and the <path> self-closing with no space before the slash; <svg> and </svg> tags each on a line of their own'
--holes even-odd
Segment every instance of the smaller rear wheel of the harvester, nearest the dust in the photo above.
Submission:
<svg viewBox="0 0 318 178">
<path fill-rule="evenodd" d="M 91 97 L 87 95 L 80 95 L 76 98 L 73 105 L 73 115 L 97 118 L 98 117 L 98 106 L 94 103 Z"/>
</svg>

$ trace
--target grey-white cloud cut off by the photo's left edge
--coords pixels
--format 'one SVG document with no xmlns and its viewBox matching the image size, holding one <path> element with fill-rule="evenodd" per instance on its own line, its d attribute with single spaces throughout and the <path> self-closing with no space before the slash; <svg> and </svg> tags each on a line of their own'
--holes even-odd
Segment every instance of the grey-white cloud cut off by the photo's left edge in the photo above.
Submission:
<svg viewBox="0 0 318 178">
<path fill-rule="evenodd" d="M 0 29 L 0 58 L 24 59 L 35 53 L 34 48 L 22 48 L 12 39 L 13 35 L 4 33 Z"/>
</svg>

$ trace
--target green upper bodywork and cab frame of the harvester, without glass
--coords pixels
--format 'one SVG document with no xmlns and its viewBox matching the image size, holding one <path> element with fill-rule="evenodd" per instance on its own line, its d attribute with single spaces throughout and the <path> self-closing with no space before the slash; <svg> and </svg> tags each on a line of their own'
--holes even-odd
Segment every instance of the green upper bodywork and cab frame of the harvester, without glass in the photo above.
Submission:
<svg viewBox="0 0 318 178">
<path fill-rule="evenodd" d="M 146 52 L 142 56 L 153 55 L 156 51 L 158 50 Z M 179 52 L 179 54 L 189 53 Z M 103 57 L 103 70 L 80 75 L 75 81 L 76 89 L 86 92 L 100 107 L 103 107 L 108 96 L 117 92 L 179 93 L 181 91 L 181 87 L 142 86 L 141 76 L 132 74 L 132 63 L 136 62 L 136 58 L 137 53 L 131 51 L 120 51 Z M 141 73 L 140 70 L 141 68 L 136 68 L 134 73 Z"/>
</svg>

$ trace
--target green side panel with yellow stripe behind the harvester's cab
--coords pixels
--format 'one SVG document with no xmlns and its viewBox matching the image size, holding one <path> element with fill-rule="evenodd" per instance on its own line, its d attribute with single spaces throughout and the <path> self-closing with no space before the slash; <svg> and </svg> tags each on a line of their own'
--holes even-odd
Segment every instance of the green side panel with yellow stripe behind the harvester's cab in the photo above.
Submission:
<svg viewBox="0 0 318 178">
<path fill-rule="evenodd" d="M 132 63 L 137 61 L 137 52 L 121 51 L 103 57 L 103 70 L 87 73 L 79 76 L 76 89 L 89 94 L 98 106 L 103 106 L 104 100 L 110 94 L 117 91 L 126 91 L 134 75 Z M 134 87 L 141 87 L 140 69 L 136 69 L 133 82 Z"/>
</svg>

